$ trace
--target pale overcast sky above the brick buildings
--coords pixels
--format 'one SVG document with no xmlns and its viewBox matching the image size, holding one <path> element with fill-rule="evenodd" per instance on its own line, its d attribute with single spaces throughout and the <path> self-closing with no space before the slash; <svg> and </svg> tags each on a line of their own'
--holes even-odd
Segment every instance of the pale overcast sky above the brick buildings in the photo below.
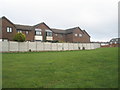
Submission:
<svg viewBox="0 0 120 90">
<path fill-rule="evenodd" d="M 45 22 L 50 28 L 80 27 L 91 41 L 118 37 L 119 0 L 0 0 L 0 17 L 15 24 Z"/>
</svg>

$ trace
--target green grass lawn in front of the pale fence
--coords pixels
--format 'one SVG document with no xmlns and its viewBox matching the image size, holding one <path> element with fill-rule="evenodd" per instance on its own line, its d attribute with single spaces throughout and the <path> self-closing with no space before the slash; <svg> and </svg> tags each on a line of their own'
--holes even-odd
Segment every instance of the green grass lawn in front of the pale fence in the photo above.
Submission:
<svg viewBox="0 0 120 90">
<path fill-rule="evenodd" d="M 3 88 L 116 88 L 118 48 L 3 54 Z"/>
</svg>

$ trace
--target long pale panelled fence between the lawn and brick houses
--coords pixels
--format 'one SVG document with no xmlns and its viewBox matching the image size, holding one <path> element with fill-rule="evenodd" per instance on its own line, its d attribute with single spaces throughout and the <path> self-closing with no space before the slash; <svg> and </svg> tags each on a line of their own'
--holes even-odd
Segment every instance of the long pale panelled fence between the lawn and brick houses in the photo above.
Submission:
<svg viewBox="0 0 120 90">
<path fill-rule="evenodd" d="M 85 50 L 100 48 L 99 43 L 46 43 L 46 42 L 13 42 L 0 41 L 0 52 L 28 52 L 28 51 L 61 51 Z"/>
</svg>

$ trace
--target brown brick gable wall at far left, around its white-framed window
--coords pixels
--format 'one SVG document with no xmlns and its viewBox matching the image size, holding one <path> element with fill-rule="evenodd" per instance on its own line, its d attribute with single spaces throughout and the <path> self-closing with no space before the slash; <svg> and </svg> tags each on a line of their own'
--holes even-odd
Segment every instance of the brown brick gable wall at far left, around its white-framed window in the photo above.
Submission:
<svg viewBox="0 0 120 90">
<path fill-rule="evenodd" d="M 7 27 L 12 28 L 12 32 L 7 32 Z M 2 38 L 3 39 L 8 39 L 8 40 L 13 40 L 13 37 L 16 34 L 16 28 L 15 26 L 10 23 L 8 20 L 5 18 L 2 18 Z"/>
</svg>

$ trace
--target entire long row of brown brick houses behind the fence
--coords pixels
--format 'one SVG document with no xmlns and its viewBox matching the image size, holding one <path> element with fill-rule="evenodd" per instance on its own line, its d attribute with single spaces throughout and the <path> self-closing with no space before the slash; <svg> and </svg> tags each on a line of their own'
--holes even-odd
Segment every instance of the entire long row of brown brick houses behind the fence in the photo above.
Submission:
<svg viewBox="0 0 120 90">
<path fill-rule="evenodd" d="M 62 42 L 90 42 L 90 36 L 85 30 L 79 27 L 66 30 L 51 29 L 44 22 L 37 25 L 18 25 L 12 23 L 6 17 L 0 18 L 0 28 L 2 35 L 0 40 L 12 41 L 16 33 L 23 33 L 26 36 L 26 41 L 53 41 Z"/>
</svg>

